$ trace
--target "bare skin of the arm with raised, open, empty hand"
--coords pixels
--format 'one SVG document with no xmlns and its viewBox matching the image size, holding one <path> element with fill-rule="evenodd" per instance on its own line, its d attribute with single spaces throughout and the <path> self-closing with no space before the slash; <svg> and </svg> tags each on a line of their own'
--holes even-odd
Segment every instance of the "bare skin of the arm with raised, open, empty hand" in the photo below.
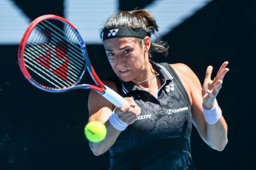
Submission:
<svg viewBox="0 0 256 170">
<path fill-rule="evenodd" d="M 175 69 L 176 73 L 181 79 L 181 82 L 184 85 L 187 94 L 190 98 L 192 106 L 192 121 L 197 131 L 199 132 L 200 137 L 212 149 L 218 151 L 224 150 L 228 141 L 227 123 L 225 122 L 225 119 L 223 118 L 223 116 L 221 116 L 221 119 L 218 120 L 217 123 L 211 125 L 206 122 L 205 117 L 203 115 L 203 102 L 207 103 L 204 105 L 207 109 L 211 109 L 211 107 L 213 106 L 213 101 L 211 103 L 211 101 L 209 101 L 208 98 L 206 98 L 205 84 L 207 83 L 207 80 L 205 79 L 205 82 L 203 84 L 203 88 L 205 89 L 202 89 L 199 79 L 197 78 L 195 73 L 190 69 L 190 67 L 181 63 L 171 64 L 171 66 L 173 67 L 173 69 Z M 222 70 L 219 70 L 219 72 L 218 73 L 222 78 L 221 81 L 215 81 L 215 85 L 213 85 L 212 89 L 210 89 L 211 91 L 214 91 L 216 95 L 218 94 L 218 91 L 220 91 L 224 75 L 228 72 L 228 69 L 222 68 Z M 206 76 L 209 76 L 209 67 L 206 70 Z M 216 97 L 216 95 L 213 97 Z"/>
</svg>

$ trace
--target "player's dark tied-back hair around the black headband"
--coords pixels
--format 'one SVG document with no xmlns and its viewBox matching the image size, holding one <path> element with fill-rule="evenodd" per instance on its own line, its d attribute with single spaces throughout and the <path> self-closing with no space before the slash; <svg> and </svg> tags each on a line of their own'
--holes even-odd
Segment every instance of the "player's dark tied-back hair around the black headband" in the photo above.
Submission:
<svg viewBox="0 0 256 170">
<path fill-rule="evenodd" d="M 130 27 L 132 29 L 144 29 L 146 32 L 150 32 L 151 35 L 155 35 L 157 41 L 151 42 L 149 55 L 151 52 L 159 52 L 163 55 L 168 55 L 168 45 L 166 42 L 161 41 L 156 32 L 159 30 L 159 26 L 156 23 L 153 15 L 147 10 L 134 10 L 134 11 L 118 11 L 106 20 L 105 25 L 100 30 L 100 39 L 102 40 L 103 29 L 110 29 L 112 27 Z M 142 39 L 136 38 L 142 45 Z"/>
</svg>

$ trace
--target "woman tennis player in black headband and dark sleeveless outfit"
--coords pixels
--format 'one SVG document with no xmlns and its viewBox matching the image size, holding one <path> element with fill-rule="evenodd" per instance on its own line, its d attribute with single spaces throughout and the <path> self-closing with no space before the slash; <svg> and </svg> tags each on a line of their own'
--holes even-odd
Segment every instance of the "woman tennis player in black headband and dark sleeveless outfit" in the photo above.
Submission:
<svg viewBox="0 0 256 170">
<path fill-rule="evenodd" d="M 113 14 L 100 32 L 118 77 L 105 84 L 130 103 L 116 108 L 94 91 L 89 95 L 89 121 L 105 123 L 108 131 L 105 140 L 90 148 L 96 156 L 110 152 L 110 169 L 195 169 L 192 124 L 212 149 L 222 151 L 227 144 L 227 123 L 216 97 L 228 62 L 214 79 L 208 66 L 201 86 L 187 65 L 150 60 L 156 52 L 167 54 L 164 42 L 151 41 L 157 31 L 147 10 L 135 10 Z"/>
</svg>

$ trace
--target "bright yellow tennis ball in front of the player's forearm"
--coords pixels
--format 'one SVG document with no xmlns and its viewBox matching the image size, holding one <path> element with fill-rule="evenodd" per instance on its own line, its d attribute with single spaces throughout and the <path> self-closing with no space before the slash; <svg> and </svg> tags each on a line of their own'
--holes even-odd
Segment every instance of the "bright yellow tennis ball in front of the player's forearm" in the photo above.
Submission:
<svg viewBox="0 0 256 170">
<path fill-rule="evenodd" d="M 102 122 L 91 121 L 84 127 L 84 134 L 89 141 L 98 143 L 106 137 L 106 126 Z"/>
</svg>

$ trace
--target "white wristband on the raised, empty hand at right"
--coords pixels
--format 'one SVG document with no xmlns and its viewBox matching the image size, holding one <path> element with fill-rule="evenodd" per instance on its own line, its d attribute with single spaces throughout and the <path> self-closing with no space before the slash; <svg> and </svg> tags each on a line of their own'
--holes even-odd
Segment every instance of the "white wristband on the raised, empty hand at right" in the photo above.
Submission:
<svg viewBox="0 0 256 170">
<path fill-rule="evenodd" d="M 217 100 L 214 100 L 214 107 L 212 109 L 206 109 L 203 106 L 203 115 L 205 116 L 205 120 L 208 124 L 215 124 L 220 120 L 222 112 L 221 108 L 218 106 Z"/>
</svg>

